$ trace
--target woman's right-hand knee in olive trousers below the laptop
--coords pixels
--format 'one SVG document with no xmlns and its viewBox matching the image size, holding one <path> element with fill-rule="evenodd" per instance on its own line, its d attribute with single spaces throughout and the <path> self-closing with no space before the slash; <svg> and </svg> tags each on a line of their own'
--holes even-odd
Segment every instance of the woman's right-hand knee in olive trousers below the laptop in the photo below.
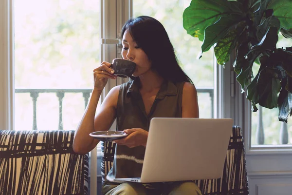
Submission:
<svg viewBox="0 0 292 195">
<path fill-rule="evenodd" d="M 201 190 L 194 182 L 187 181 L 174 187 L 169 195 L 201 195 Z"/>
</svg>

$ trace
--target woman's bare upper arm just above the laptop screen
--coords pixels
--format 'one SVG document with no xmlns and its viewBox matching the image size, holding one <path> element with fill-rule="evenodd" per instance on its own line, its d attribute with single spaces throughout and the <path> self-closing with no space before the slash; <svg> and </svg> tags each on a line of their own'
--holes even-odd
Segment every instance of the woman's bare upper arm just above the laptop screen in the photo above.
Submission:
<svg viewBox="0 0 292 195">
<path fill-rule="evenodd" d="M 185 82 L 183 85 L 183 118 L 199 118 L 198 94 L 192 83 Z"/>
</svg>

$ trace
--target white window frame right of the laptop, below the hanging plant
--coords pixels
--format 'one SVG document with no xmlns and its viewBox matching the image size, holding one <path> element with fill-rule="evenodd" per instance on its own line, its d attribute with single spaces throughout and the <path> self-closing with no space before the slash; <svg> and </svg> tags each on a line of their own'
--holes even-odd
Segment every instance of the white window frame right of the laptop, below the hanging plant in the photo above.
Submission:
<svg viewBox="0 0 292 195">
<path fill-rule="evenodd" d="M 217 105 L 223 105 L 222 110 L 218 111 L 218 116 L 225 118 L 233 118 L 234 125 L 242 129 L 244 137 L 245 153 L 248 156 L 256 155 L 291 155 L 292 146 L 251 146 L 251 116 L 252 105 L 246 98 L 246 92 L 242 93 L 240 84 L 236 80 L 236 73 L 233 71 L 233 64 L 236 58 L 236 53 L 231 53 L 230 61 L 222 68 L 221 65 L 217 70 L 219 97 L 217 98 Z M 220 78 L 221 77 L 221 78 Z M 220 84 L 220 82 L 223 82 Z M 221 93 L 221 95 L 220 95 Z"/>
</svg>

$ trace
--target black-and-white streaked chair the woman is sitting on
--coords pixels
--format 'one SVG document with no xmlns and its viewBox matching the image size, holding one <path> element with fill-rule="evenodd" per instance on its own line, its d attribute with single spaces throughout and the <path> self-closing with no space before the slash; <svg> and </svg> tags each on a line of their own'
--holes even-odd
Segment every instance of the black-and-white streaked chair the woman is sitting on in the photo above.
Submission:
<svg viewBox="0 0 292 195">
<path fill-rule="evenodd" d="M 109 173 L 115 151 L 115 144 L 102 142 L 101 159 L 102 184 Z M 226 154 L 223 176 L 219 179 L 196 180 L 203 195 L 248 195 L 245 150 L 241 128 L 233 126 Z"/>
</svg>

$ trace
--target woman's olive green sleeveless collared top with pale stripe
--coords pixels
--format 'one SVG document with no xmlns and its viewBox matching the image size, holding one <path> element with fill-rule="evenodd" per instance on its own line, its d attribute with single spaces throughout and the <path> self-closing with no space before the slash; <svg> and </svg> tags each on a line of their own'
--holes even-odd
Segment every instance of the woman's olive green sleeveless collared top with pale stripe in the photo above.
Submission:
<svg viewBox="0 0 292 195">
<path fill-rule="evenodd" d="M 117 130 L 141 128 L 148 131 L 153 117 L 182 117 L 183 84 L 164 81 L 148 115 L 139 91 L 139 78 L 122 84 L 116 110 Z M 141 177 L 144 154 L 144 146 L 128 148 L 116 145 L 113 167 L 107 180 L 120 183 L 115 178 Z"/>
</svg>

